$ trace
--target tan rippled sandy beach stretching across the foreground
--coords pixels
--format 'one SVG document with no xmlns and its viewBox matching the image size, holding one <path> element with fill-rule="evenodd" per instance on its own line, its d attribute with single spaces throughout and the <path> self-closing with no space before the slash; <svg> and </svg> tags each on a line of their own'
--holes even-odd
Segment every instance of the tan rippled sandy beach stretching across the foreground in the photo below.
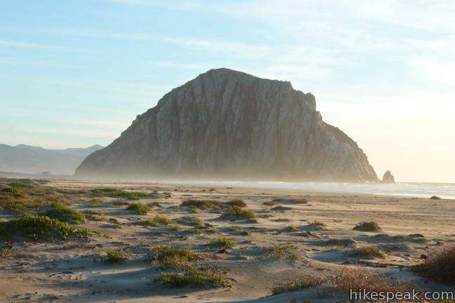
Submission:
<svg viewBox="0 0 455 303">
<path fill-rule="evenodd" d="M 413 270 L 454 243 L 454 200 L 73 180 L 39 187 L 49 189 L 43 198 L 84 214 L 78 227 L 97 232 L 66 241 L 2 239 L 1 302 L 349 302 L 334 279 L 357 268 L 393 283 L 455 291 Z M 106 188 L 154 196 L 131 201 L 93 191 Z M 199 208 L 194 201 L 218 204 Z M 238 209 L 253 215 L 227 213 L 229 201 L 243 201 Z M 128 210 L 132 203 L 150 209 Z M 1 221 L 19 217 L 2 206 Z M 353 229 L 371 221 L 380 229 Z M 164 264 L 159 247 L 187 248 L 197 257 Z M 120 262 L 110 262 L 109 252 L 121 255 Z M 176 287 L 164 281 L 182 268 L 216 273 L 222 282 Z M 295 281 L 317 283 L 278 293 L 279 285 Z"/>
</svg>

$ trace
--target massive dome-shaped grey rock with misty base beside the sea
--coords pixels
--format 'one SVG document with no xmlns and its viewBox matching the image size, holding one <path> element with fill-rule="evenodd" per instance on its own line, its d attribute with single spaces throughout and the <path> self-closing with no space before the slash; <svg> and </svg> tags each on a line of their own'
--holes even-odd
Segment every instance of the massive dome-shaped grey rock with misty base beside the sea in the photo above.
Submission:
<svg viewBox="0 0 455 303">
<path fill-rule="evenodd" d="M 377 181 L 348 135 L 291 83 L 211 69 L 88 156 L 79 177 Z"/>
</svg>

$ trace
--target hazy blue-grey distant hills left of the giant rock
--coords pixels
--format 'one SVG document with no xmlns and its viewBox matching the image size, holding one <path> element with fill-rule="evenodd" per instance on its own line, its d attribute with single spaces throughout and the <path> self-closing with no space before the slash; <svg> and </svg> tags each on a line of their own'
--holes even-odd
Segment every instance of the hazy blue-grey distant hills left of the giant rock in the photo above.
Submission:
<svg viewBox="0 0 455 303">
<path fill-rule="evenodd" d="M 93 145 L 87 148 L 44 149 L 25 144 L 15 147 L 0 144 L 0 170 L 11 173 L 72 175 L 86 156 L 102 148 Z"/>
</svg>

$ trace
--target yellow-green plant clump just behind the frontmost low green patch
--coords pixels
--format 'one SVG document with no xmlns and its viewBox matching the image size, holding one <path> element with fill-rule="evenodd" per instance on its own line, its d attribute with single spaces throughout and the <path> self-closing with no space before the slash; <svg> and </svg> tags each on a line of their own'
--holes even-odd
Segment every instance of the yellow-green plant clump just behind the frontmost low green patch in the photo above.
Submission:
<svg viewBox="0 0 455 303">
<path fill-rule="evenodd" d="M 150 250 L 150 260 L 154 264 L 163 264 L 168 267 L 182 267 L 200 259 L 202 259 L 202 255 L 194 253 L 189 248 L 158 246 Z"/>
</svg>

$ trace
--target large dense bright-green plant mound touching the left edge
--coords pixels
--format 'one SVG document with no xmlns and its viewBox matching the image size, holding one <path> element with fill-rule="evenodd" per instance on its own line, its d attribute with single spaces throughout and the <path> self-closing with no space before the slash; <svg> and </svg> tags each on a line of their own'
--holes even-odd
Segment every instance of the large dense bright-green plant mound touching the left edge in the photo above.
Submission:
<svg viewBox="0 0 455 303">
<path fill-rule="evenodd" d="M 10 240 L 13 236 L 27 237 L 31 241 L 55 236 L 66 240 L 71 235 L 82 238 L 90 236 L 91 231 L 40 215 L 24 215 L 18 219 L 0 222 L 0 238 L 5 240 Z"/>
</svg>

